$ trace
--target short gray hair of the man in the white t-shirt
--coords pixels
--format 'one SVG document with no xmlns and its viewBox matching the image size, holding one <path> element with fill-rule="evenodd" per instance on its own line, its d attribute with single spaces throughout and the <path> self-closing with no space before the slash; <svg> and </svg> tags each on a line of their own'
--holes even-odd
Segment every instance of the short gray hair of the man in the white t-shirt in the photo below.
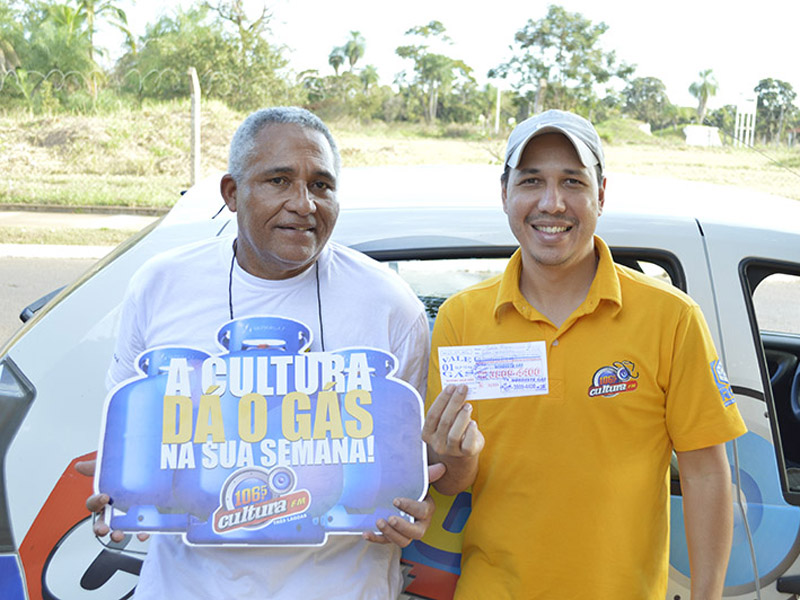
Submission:
<svg viewBox="0 0 800 600">
<path fill-rule="evenodd" d="M 342 168 L 342 157 L 339 155 L 339 148 L 336 140 L 333 139 L 330 129 L 322 120 L 305 108 L 298 106 L 273 106 L 262 108 L 251 113 L 233 134 L 230 152 L 228 154 L 228 172 L 233 176 L 234 181 L 240 181 L 244 175 L 247 162 L 256 151 L 256 136 L 259 132 L 271 123 L 294 123 L 301 127 L 307 127 L 314 131 L 319 131 L 328 140 L 328 144 L 333 152 L 333 167 L 336 175 Z"/>
</svg>

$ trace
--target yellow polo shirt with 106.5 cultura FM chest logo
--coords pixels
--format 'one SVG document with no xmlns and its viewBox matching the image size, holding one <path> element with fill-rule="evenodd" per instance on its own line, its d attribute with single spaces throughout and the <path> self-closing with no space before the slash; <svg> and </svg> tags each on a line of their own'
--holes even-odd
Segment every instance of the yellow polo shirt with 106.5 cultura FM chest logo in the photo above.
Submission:
<svg viewBox="0 0 800 600">
<path fill-rule="evenodd" d="M 559 328 L 522 296 L 519 251 L 503 275 L 439 311 L 428 405 L 441 390 L 440 346 L 547 348 L 547 395 L 473 402 L 486 446 L 459 600 L 663 600 L 672 449 L 745 432 L 697 304 L 614 264 L 598 237 L 595 249 L 589 293 Z"/>
</svg>

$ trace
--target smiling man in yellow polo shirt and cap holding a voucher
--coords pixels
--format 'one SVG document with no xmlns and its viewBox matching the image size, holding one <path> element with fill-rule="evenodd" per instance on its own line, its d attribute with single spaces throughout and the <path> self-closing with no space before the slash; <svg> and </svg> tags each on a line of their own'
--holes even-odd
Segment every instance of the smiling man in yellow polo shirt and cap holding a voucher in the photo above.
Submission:
<svg viewBox="0 0 800 600">
<path fill-rule="evenodd" d="M 745 426 L 697 304 L 614 264 L 595 236 L 603 170 L 582 117 L 547 111 L 518 125 L 501 194 L 520 248 L 436 320 L 423 438 L 447 465 L 440 492 L 473 486 L 457 599 L 663 600 L 673 449 L 692 598 L 722 595 L 724 443 Z M 442 390 L 439 348 L 458 361 L 460 346 L 497 345 L 491 368 L 518 356 L 506 344 L 526 342 L 541 342 L 524 352 L 546 362 L 544 390 L 476 402 L 465 386 Z"/>
</svg>

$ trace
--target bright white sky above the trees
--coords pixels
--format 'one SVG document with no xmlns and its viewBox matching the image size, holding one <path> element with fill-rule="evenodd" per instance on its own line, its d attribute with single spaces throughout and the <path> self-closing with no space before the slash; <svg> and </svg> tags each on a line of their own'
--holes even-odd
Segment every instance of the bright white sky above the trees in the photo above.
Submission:
<svg viewBox="0 0 800 600">
<path fill-rule="evenodd" d="M 254 13 L 260 12 L 262 2 L 245 3 Z M 398 46 L 410 41 L 405 32 L 434 19 L 442 22 L 452 39 L 452 45 L 436 51 L 463 60 L 474 69 L 476 79 L 486 83 L 489 69 L 512 56 L 514 34 L 528 19 L 542 18 L 551 3 L 492 0 L 477 9 L 464 0 L 267 0 L 272 41 L 286 46 L 294 72 L 317 69 L 323 75 L 333 74 L 328 65 L 331 50 L 344 45 L 350 31 L 359 31 L 366 48 L 356 68 L 375 65 L 385 84 L 391 84 L 399 71 L 412 68 L 410 61 L 395 54 Z M 119 4 L 127 10 L 133 32 L 141 35 L 147 23 L 192 2 L 135 0 L 135 8 L 134 0 Z M 673 104 L 696 105 L 688 89 L 704 69 L 713 70 L 719 85 L 710 108 L 753 98 L 753 88 L 767 77 L 787 81 L 800 93 L 797 0 L 563 0 L 558 4 L 593 23 L 608 25 L 601 38 L 603 49 L 635 64 L 635 77 L 661 79 Z M 114 36 L 106 35 L 101 40 L 108 40 L 113 56 Z"/>
</svg>

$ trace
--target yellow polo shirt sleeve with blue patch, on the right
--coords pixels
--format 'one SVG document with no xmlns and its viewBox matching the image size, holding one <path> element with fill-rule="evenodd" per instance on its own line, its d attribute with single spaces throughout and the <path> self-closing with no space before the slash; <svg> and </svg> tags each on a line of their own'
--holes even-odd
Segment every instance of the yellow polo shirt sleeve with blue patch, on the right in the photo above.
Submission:
<svg viewBox="0 0 800 600">
<path fill-rule="evenodd" d="M 747 431 L 696 304 L 687 306 L 676 328 L 666 419 L 679 452 L 721 444 Z"/>
</svg>

